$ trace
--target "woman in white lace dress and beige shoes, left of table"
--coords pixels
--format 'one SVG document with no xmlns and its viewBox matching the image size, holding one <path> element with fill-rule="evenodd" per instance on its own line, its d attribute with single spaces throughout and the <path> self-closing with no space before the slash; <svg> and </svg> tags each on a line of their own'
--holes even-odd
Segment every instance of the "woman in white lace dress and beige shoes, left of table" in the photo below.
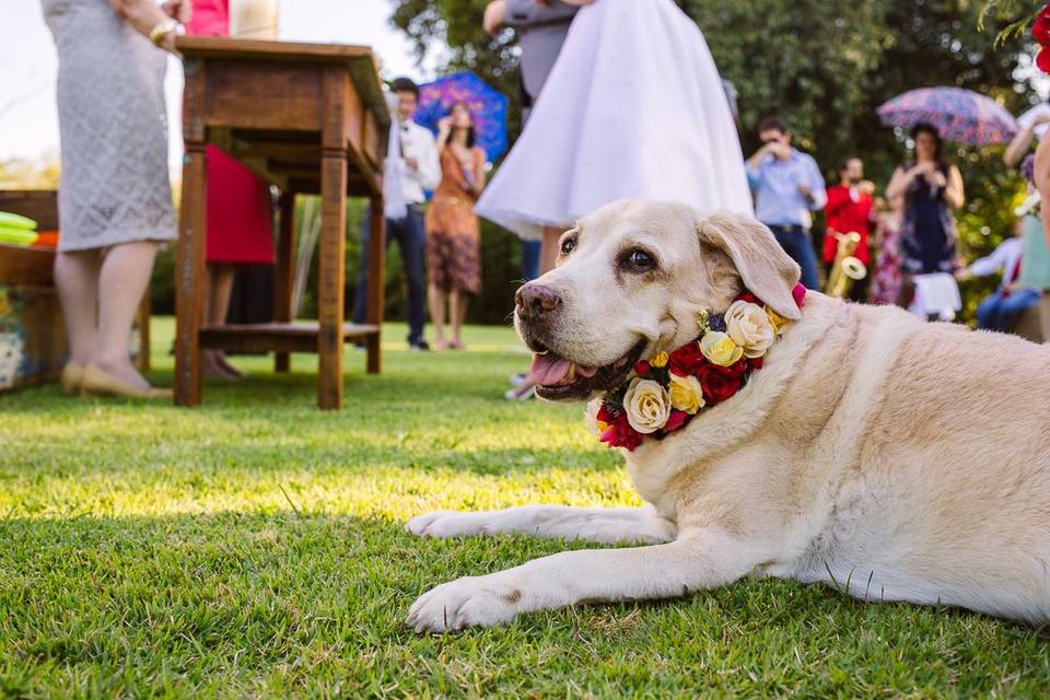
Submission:
<svg viewBox="0 0 1050 700">
<path fill-rule="evenodd" d="M 58 48 L 62 235 L 55 260 L 68 393 L 171 397 L 128 357 L 162 241 L 175 238 L 164 73 L 186 0 L 43 0 Z M 143 348 L 143 352 L 148 349 Z"/>
</svg>

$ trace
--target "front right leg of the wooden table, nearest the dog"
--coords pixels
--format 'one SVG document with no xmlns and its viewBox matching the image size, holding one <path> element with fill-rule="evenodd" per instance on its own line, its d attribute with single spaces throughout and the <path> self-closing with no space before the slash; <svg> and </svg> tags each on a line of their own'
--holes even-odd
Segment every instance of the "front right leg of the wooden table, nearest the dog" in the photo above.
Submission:
<svg viewBox="0 0 1050 700">
<path fill-rule="evenodd" d="M 347 152 L 322 158 L 320 243 L 317 256 L 317 406 L 342 407 L 342 317 L 346 293 Z"/>
</svg>

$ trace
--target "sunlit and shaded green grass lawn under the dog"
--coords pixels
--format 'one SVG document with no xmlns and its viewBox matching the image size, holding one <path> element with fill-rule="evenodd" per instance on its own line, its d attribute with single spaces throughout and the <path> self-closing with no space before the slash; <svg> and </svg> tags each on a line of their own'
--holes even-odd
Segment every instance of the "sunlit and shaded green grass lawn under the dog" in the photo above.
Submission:
<svg viewBox="0 0 1050 700">
<path fill-rule="evenodd" d="M 236 359 L 252 377 L 192 410 L 0 396 L 0 697 L 1050 692 L 1045 632 L 779 581 L 416 635 L 424 590 L 565 545 L 416 539 L 412 515 L 638 497 L 579 406 L 502 399 L 526 363 L 510 330 L 471 328 L 468 353 L 402 338 L 381 376 L 348 351 L 341 412 L 314 408 L 310 355 Z"/>
</svg>

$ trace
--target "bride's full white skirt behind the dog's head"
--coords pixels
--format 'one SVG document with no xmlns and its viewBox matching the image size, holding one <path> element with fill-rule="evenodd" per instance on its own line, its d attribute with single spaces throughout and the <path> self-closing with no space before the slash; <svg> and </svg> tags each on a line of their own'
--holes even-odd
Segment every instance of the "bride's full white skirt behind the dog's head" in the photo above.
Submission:
<svg viewBox="0 0 1050 700">
<path fill-rule="evenodd" d="M 672 0 L 576 14 L 476 211 L 523 238 L 625 197 L 751 213 L 740 142 L 700 28 Z"/>
</svg>

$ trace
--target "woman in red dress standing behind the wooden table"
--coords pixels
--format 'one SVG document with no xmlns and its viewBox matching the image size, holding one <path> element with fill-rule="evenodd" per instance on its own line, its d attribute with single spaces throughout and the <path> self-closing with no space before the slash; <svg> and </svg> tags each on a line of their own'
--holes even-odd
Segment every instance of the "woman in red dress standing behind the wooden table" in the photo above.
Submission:
<svg viewBox="0 0 1050 700">
<path fill-rule="evenodd" d="M 230 33 L 230 0 L 194 0 L 189 34 Z M 221 326 L 230 312 L 237 266 L 273 265 L 273 212 L 269 186 L 218 147 L 205 151 L 208 166 L 207 323 Z M 205 376 L 234 381 L 244 374 L 222 350 L 202 350 Z"/>
</svg>

